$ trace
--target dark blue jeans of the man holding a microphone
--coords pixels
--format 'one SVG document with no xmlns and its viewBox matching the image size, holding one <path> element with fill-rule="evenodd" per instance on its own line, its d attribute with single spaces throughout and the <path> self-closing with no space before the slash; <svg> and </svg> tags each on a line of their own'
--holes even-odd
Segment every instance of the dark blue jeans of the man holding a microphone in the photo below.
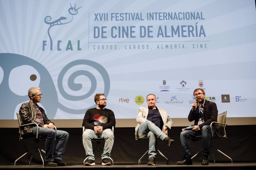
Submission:
<svg viewBox="0 0 256 170">
<path fill-rule="evenodd" d="M 213 134 L 215 129 L 213 127 Z M 202 135 L 202 155 L 210 154 L 211 128 L 210 125 L 205 125 L 200 131 L 184 130 L 180 133 L 181 148 L 184 159 L 191 159 L 190 155 L 190 139 L 195 136 Z"/>
</svg>

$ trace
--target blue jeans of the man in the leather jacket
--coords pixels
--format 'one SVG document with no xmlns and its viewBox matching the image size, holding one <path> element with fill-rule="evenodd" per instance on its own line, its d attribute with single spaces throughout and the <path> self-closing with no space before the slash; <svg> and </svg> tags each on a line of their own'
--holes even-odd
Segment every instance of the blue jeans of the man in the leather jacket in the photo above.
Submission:
<svg viewBox="0 0 256 170">
<path fill-rule="evenodd" d="M 33 135 L 36 135 L 36 127 L 33 127 Z M 68 142 L 69 134 L 63 130 L 39 127 L 39 136 L 46 137 L 45 141 L 45 160 L 53 161 L 54 159 L 62 160 Z M 58 143 L 54 149 L 55 139 Z"/>
</svg>

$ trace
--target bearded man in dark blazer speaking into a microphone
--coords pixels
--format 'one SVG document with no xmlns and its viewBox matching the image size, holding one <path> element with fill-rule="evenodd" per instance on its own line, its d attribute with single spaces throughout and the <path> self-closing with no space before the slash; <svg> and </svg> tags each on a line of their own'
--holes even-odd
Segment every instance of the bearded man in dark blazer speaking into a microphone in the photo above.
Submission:
<svg viewBox="0 0 256 170">
<path fill-rule="evenodd" d="M 217 122 L 218 109 L 214 102 L 205 99 L 205 92 L 203 89 L 195 89 L 193 95 L 196 101 L 192 103 L 191 110 L 188 115 L 190 122 L 194 121 L 194 128 L 192 130 L 184 130 L 180 133 L 181 148 L 183 153 L 183 160 L 178 161 L 180 165 L 192 165 L 190 155 L 190 139 L 195 136 L 202 136 L 202 163 L 201 165 L 209 165 L 210 141 L 211 141 L 211 122 Z M 219 124 L 214 123 L 213 133 L 220 135 Z"/>
</svg>

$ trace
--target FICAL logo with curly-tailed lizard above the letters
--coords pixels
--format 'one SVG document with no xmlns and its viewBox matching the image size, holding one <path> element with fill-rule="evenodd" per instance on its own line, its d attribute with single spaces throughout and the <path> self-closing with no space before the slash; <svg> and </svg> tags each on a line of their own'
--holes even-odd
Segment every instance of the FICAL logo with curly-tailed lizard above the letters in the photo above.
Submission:
<svg viewBox="0 0 256 170">
<path fill-rule="evenodd" d="M 55 20 L 55 21 L 52 21 L 52 17 L 50 16 L 46 16 L 45 17 L 45 23 L 46 24 L 49 24 L 49 28 L 48 28 L 48 36 L 49 36 L 49 40 L 50 42 L 46 41 L 46 40 L 43 40 L 43 51 L 45 51 L 45 48 L 46 46 L 49 46 L 50 45 L 50 50 L 52 51 L 52 47 L 53 47 L 53 42 L 57 44 L 57 50 L 58 51 L 61 51 L 62 49 L 60 48 L 61 44 L 66 44 L 65 47 L 66 47 L 66 51 L 68 50 L 71 50 L 73 51 L 73 46 L 72 46 L 72 41 L 71 40 L 68 40 L 67 42 L 62 42 L 61 40 L 55 40 L 53 41 L 52 40 L 52 36 L 50 34 L 50 29 L 53 27 L 53 26 L 61 26 L 63 24 L 68 24 L 70 23 L 72 20 L 73 20 L 73 17 L 78 14 L 78 9 L 80 9 L 82 7 L 79 7 L 79 8 L 76 8 L 76 4 L 74 5 L 74 7 L 72 7 L 71 3 L 70 3 L 70 8 L 68 9 L 68 12 L 67 12 L 67 17 L 69 17 L 70 19 L 66 18 L 66 17 L 59 17 L 58 20 Z M 72 17 L 70 17 L 70 15 Z M 80 48 L 80 40 L 77 40 L 77 50 L 80 51 L 82 50 Z"/>
</svg>

